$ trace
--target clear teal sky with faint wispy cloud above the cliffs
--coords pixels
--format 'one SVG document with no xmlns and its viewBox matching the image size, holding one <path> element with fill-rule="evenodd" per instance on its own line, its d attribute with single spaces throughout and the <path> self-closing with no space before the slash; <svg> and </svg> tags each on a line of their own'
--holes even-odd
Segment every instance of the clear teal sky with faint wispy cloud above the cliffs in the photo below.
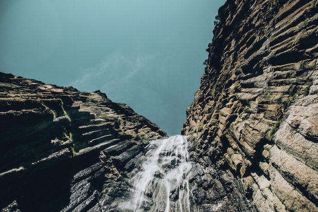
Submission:
<svg viewBox="0 0 318 212">
<path fill-rule="evenodd" d="M 0 71 L 101 90 L 180 134 L 225 0 L 0 0 Z"/>
</svg>

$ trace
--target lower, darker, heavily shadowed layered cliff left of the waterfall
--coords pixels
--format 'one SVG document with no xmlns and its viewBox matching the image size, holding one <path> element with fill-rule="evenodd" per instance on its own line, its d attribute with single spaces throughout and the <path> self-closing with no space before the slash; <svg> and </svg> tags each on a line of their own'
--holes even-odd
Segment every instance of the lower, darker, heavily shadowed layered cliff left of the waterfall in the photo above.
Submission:
<svg viewBox="0 0 318 212">
<path fill-rule="evenodd" d="M 167 136 L 99 91 L 4 73 L 0 109 L 1 211 L 102 211 L 128 187 L 124 166 Z"/>
</svg>

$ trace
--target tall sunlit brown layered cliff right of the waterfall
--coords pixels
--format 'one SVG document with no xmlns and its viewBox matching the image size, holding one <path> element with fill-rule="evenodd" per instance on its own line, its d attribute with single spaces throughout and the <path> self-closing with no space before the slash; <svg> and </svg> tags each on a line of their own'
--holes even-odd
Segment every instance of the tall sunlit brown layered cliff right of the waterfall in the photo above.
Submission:
<svg viewBox="0 0 318 212">
<path fill-rule="evenodd" d="M 194 201 L 318 211 L 318 1 L 227 1 L 187 108 Z"/>
</svg>

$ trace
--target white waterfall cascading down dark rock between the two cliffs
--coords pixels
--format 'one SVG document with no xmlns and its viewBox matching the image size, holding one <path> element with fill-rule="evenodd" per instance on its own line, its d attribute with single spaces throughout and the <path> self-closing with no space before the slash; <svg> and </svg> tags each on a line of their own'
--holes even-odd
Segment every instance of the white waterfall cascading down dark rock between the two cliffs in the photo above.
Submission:
<svg viewBox="0 0 318 212">
<path fill-rule="evenodd" d="M 139 172 L 132 177 L 133 195 L 125 210 L 190 211 L 188 174 L 192 169 L 188 141 L 177 135 L 150 141 Z M 124 206 L 125 205 L 125 206 Z"/>
</svg>

